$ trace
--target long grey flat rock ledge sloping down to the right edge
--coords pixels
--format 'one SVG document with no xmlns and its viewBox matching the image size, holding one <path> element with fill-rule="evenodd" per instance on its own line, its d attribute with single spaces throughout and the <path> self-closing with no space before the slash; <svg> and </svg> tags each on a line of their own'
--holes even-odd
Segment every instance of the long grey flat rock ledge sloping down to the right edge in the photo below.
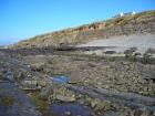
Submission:
<svg viewBox="0 0 155 116">
<path fill-rule="evenodd" d="M 122 104 L 133 109 L 146 109 L 153 113 L 155 110 L 155 98 L 152 97 L 145 97 L 133 93 L 115 93 L 105 88 L 93 88 L 91 86 L 68 85 L 66 87 L 80 94 L 86 94 L 90 97 L 95 97 L 101 101 Z"/>
</svg>

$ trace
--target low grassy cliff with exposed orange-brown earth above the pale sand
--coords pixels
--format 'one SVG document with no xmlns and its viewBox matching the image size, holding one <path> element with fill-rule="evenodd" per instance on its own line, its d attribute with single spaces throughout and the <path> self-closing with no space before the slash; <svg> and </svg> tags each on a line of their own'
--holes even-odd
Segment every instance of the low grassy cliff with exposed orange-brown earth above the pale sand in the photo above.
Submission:
<svg viewBox="0 0 155 116">
<path fill-rule="evenodd" d="M 108 19 L 106 21 L 85 24 L 78 28 L 65 29 L 37 35 L 17 43 L 16 48 L 43 48 L 73 45 L 85 43 L 95 39 L 104 39 L 113 35 L 128 35 L 134 33 L 155 32 L 155 11 L 141 12 L 134 15 Z"/>
</svg>

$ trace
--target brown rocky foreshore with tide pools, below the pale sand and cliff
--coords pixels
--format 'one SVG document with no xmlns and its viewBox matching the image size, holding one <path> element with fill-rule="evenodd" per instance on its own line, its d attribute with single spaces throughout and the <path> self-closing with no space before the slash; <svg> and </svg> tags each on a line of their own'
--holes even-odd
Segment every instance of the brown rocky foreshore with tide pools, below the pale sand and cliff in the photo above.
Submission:
<svg viewBox="0 0 155 116">
<path fill-rule="evenodd" d="M 13 92 L 25 93 L 19 96 L 27 97 L 30 107 L 35 107 L 31 108 L 32 114 L 29 112 L 30 116 L 155 115 L 154 64 L 69 55 L 60 51 L 33 55 L 20 52 L 10 55 L 7 51 L 0 52 L 0 85 L 6 91 L 9 86 L 13 89 L 8 96 Z M 2 105 L 0 110 L 14 113 L 18 97 L 12 97 L 13 102 L 10 97 L 7 99 L 9 108 Z M 0 104 L 2 98 L 1 94 Z M 28 114 L 27 104 L 23 107 Z"/>
</svg>

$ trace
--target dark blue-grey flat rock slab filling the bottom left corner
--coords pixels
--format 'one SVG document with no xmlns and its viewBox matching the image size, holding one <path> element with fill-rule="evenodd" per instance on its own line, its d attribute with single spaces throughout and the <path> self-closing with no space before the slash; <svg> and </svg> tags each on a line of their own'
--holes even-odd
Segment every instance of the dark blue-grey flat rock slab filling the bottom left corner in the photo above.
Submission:
<svg viewBox="0 0 155 116">
<path fill-rule="evenodd" d="M 18 86 L 0 82 L 0 116 L 41 116 L 41 113 Z"/>
</svg>

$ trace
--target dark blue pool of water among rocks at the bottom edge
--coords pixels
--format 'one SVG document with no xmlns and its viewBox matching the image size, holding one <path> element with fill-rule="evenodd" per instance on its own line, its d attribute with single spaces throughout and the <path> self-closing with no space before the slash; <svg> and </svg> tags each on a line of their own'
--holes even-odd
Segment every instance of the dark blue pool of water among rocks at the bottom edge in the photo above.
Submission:
<svg viewBox="0 0 155 116">
<path fill-rule="evenodd" d="M 93 116 L 89 107 L 78 103 L 59 104 L 53 103 L 50 110 L 54 116 Z"/>
</svg>

